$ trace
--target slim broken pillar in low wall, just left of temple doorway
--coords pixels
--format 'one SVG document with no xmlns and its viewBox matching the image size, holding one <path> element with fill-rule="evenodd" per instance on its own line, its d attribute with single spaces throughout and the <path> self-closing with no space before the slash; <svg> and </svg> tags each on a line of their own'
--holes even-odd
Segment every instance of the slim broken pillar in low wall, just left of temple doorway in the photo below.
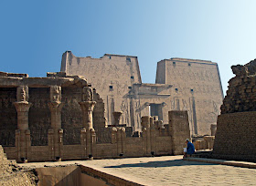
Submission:
<svg viewBox="0 0 256 186">
<path fill-rule="evenodd" d="M 143 139 L 144 139 L 144 153 L 145 155 L 151 154 L 151 144 L 150 144 L 150 116 L 142 117 L 142 127 L 143 127 Z"/>
</svg>

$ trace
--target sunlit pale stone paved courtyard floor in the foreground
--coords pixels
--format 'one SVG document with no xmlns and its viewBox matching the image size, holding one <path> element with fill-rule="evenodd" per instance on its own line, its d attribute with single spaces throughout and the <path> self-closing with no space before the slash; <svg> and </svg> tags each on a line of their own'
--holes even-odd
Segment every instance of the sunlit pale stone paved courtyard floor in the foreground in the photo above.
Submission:
<svg viewBox="0 0 256 186">
<path fill-rule="evenodd" d="M 19 164 L 27 167 L 80 164 L 142 185 L 256 185 L 256 169 L 182 160 L 182 156 L 73 160 Z"/>
</svg>

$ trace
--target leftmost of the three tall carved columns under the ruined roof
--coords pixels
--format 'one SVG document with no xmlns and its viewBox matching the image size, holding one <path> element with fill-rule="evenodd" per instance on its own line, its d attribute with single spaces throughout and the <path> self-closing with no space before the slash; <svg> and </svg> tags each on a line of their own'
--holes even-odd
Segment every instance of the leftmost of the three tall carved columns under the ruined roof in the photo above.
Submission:
<svg viewBox="0 0 256 186">
<path fill-rule="evenodd" d="M 17 101 L 14 103 L 17 112 L 16 150 L 17 161 L 26 161 L 30 148 L 30 130 L 28 129 L 28 87 L 20 86 L 16 91 Z"/>
</svg>

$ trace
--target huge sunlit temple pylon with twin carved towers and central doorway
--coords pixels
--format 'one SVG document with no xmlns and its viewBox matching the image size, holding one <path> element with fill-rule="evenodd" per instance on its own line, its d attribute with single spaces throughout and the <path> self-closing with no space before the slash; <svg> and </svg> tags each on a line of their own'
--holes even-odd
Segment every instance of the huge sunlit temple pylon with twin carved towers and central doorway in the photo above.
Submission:
<svg viewBox="0 0 256 186">
<path fill-rule="evenodd" d="M 167 124 L 169 110 L 187 110 L 191 133 L 209 135 L 223 99 L 218 64 L 207 60 L 161 60 L 155 84 L 142 83 L 138 58 L 132 56 L 75 57 L 67 51 L 60 70 L 85 76 L 97 89 L 108 125 L 114 122 L 112 112 L 122 111 L 120 122 L 137 131 L 142 116 L 157 116 Z"/>
</svg>

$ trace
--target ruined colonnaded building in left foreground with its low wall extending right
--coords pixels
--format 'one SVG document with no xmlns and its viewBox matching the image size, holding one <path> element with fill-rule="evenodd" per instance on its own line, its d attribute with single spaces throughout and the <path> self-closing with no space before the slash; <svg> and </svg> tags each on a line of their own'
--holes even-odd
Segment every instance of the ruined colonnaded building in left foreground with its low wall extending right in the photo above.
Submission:
<svg viewBox="0 0 256 186">
<path fill-rule="evenodd" d="M 142 132 L 104 118 L 104 102 L 80 76 L 47 78 L 0 72 L 0 145 L 19 162 L 182 154 L 190 138 L 187 110 L 168 112 L 168 124 L 143 116 Z"/>
</svg>

